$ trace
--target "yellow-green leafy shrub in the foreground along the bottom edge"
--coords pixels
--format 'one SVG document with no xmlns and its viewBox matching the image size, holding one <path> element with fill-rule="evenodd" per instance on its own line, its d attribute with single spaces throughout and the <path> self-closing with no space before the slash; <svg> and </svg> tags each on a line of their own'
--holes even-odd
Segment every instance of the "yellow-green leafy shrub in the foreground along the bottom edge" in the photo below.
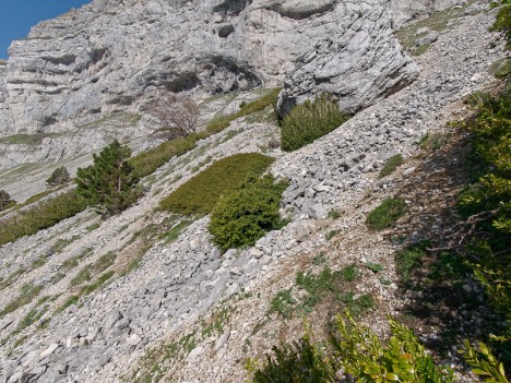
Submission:
<svg viewBox="0 0 511 383">
<path fill-rule="evenodd" d="M 300 340 L 273 347 L 262 363 L 250 360 L 253 383 L 407 382 L 450 383 L 453 374 L 436 366 L 407 327 L 390 320 L 392 336 L 382 343 L 367 326 L 337 316 L 332 335 L 321 347 L 307 334 Z M 309 331 L 310 333 L 310 331 Z"/>
</svg>

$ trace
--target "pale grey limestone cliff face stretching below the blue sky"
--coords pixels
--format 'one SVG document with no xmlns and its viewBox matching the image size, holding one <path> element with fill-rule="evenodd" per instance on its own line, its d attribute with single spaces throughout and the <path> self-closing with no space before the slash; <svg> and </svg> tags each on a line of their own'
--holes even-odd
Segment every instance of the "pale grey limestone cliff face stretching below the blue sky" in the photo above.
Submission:
<svg viewBox="0 0 511 383">
<path fill-rule="evenodd" d="M 66 132 L 134 112 L 158 89 L 277 85 L 289 71 L 293 81 L 302 76 L 295 62 L 305 53 L 309 67 L 334 59 L 324 53 L 330 48 L 356 56 L 324 62 L 319 82 L 343 71 L 367 77 L 349 103 L 366 106 L 373 86 L 381 95 L 416 74 L 391 36 L 385 7 L 387 0 L 95 0 L 11 45 L 0 67 L 0 135 Z"/>
</svg>

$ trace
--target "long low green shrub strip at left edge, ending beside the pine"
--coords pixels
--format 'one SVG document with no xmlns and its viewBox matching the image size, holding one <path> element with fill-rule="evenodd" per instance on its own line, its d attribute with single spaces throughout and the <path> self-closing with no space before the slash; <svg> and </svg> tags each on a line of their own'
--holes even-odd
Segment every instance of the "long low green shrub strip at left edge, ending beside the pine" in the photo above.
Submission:
<svg viewBox="0 0 511 383">
<path fill-rule="evenodd" d="M 74 190 L 46 200 L 34 207 L 0 220 L 0 244 L 15 241 L 84 211 L 86 202 Z"/>
</svg>

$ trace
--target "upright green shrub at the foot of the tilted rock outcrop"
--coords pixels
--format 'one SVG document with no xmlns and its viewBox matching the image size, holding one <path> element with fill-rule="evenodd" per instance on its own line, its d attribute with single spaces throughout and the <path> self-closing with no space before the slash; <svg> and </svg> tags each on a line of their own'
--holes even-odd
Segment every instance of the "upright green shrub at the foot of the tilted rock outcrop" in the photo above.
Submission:
<svg viewBox="0 0 511 383">
<path fill-rule="evenodd" d="M 281 146 L 286 152 L 296 151 L 330 133 L 347 120 L 337 103 L 321 94 L 311 103 L 296 106 L 282 121 Z"/>
</svg>

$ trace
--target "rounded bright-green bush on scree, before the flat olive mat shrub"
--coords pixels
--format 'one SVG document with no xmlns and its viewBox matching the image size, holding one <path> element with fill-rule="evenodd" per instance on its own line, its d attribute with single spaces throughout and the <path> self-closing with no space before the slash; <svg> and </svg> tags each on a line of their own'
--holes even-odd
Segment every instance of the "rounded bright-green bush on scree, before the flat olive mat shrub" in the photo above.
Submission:
<svg viewBox="0 0 511 383">
<path fill-rule="evenodd" d="M 222 250 L 251 246 L 265 232 L 281 228 L 278 204 L 287 183 L 272 176 L 250 178 L 225 193 L 211 215 L 209 230 Z"/>
</svg>

